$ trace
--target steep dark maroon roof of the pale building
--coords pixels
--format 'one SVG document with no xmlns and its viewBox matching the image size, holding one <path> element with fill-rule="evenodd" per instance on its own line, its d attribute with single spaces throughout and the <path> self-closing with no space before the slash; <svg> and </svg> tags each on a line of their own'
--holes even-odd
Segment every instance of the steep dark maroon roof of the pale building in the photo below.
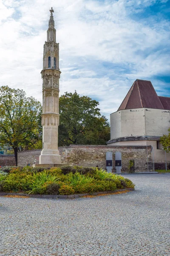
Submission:
<svg viewBox="0 0 170 256">
<path fill-rule="evenodd" d="M 118 111 L 131 108 L 170 110 L 170 97 L 158 96 L 151 81 L 136 79 Z"/>
</svg>

